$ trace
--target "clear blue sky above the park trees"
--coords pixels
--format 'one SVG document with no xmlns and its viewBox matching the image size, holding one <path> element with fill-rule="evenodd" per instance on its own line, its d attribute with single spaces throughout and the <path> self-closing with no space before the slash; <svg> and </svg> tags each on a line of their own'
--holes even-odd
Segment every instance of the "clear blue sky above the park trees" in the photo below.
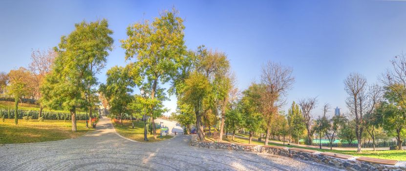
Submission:
<svg viewBox="0 0 406 171">
<path fill-rule="evenodd" d="M 241 90 L 260 80 L 268 61 L 292 67 L 296 81 L 282 109 L 317 96 L 315 117 L 324 103 L 348 111 L 343 80 L 349 73 L 378 82 L 389 60 L 406 50 L 406 1 L 0 0 L 0 71 L 28 66 L 32 49 L 57 46 L 75 23 L 107 19 L 114 49 L 97 75 L 104 83 L 108 68 L 128 64 L 120 44 L 128 25 L 172 7 L 185 20 L 188 49 L 204 44 L 225 52 Z M 176 98 L 164 105 L 174 111 Z"/>
</svg>

